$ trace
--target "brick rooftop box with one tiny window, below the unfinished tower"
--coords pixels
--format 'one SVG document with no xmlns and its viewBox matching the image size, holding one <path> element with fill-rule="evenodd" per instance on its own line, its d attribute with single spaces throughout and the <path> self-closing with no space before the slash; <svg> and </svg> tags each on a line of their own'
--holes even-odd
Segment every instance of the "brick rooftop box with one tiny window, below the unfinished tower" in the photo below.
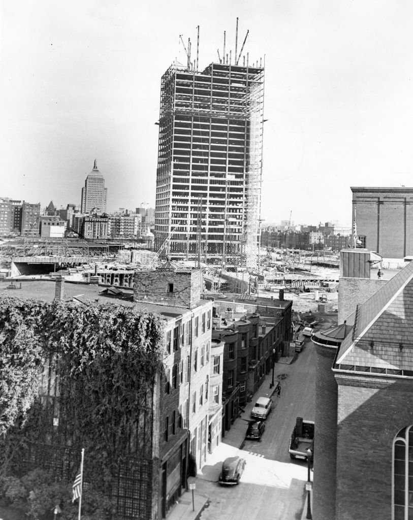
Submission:
<svg viewBox="0 0 413 520">
<path fill-rule="evenodd" d="M 193 308 L 201 298 L 201 271 L 136 271 L 134 300 Z"/>
</svg>

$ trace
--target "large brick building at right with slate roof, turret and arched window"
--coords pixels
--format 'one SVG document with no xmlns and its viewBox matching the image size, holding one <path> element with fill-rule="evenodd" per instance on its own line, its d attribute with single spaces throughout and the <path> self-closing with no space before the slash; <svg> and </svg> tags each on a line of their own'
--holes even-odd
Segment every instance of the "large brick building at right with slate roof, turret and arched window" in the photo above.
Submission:
<svg viewBox="0 0 413 520">
<path fill-rule="evenodd" d="M 413 263 L 383 281 L 370 279 L 370 261 L 365 250 L 342 252 L 342 335 L 313 336 L 318 520 L 412 514 Z"/>
</svg>

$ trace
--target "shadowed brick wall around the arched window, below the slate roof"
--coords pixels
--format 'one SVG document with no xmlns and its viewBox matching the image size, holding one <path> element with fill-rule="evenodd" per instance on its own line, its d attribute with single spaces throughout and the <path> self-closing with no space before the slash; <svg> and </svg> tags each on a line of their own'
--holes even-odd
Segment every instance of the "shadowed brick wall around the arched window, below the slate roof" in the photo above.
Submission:
<svg viewBox="0 0 413 520">
<path fill-rule="evenodd" d="M 338 382 L 335 520 L 391 518 L 392 443 L 413 424 L 410 379 L 336 373 Z"/>
</svg>

